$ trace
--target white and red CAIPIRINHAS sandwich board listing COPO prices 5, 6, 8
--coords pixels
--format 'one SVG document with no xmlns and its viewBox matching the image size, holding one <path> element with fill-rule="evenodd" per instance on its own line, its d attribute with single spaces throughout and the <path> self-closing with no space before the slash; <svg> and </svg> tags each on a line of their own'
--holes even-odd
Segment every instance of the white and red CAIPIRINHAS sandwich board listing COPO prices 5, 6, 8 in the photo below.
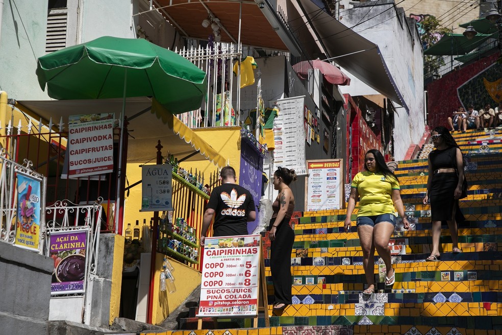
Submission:
<svg viewBox="0 0 502 335">
<path fill-rule="evenodd" d="M 208 237 L 197 317 L 258 315 L 261 235 Z"/>
</svg>

